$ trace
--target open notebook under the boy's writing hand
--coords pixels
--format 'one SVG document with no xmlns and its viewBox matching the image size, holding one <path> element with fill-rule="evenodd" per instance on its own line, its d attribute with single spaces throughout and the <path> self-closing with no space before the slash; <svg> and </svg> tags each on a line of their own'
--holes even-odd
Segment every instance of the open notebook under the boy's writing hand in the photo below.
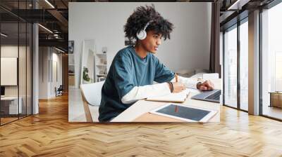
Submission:
<svg viewBox="0 0 282 157">
<path fill-rule="evenodd" d="M 169 95 L 162 95 L 158 97 L 147 97 L 147 100 L 154 102 L 185 102 L 189 93 L 190 91 L 187 89 L 180 93 L 170 93 Z"/>
</svg>

